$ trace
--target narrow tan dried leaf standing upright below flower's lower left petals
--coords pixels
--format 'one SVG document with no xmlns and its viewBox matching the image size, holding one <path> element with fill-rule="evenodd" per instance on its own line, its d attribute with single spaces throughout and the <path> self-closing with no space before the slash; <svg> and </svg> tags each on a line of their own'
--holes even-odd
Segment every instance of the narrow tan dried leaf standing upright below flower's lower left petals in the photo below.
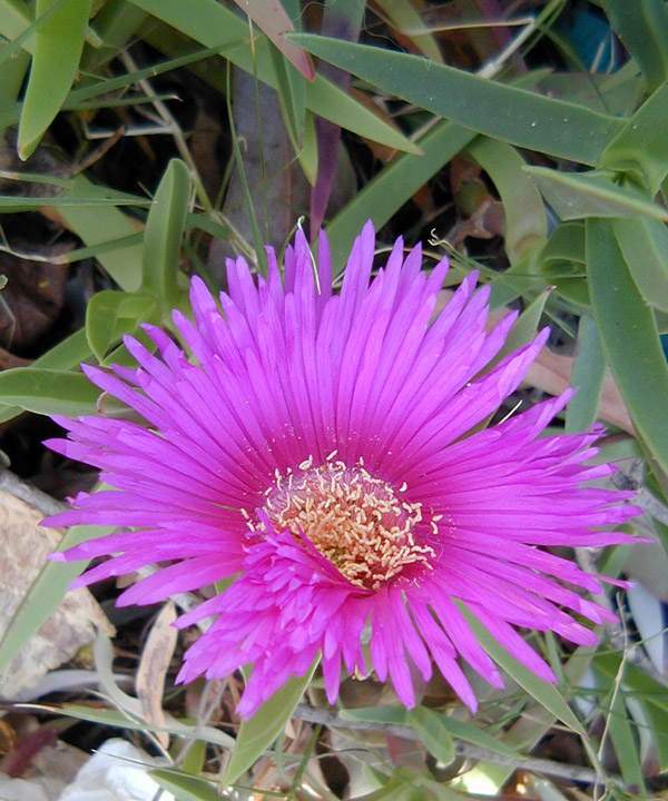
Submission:
<svg viewBox="0 0 668 801">
<path fill-rule="evenodd" d="M 163 711 L 163 692 L 165 690 L 165 676 L 169 670 L 169 663 L 178 632 L 171 625 L 176 620 L 176 609 L 171 601 L 168 601 L 154 623 L 150 634 L 141 653 L 141 661 L 135 680 L 137 698 L 141 702 L 144 718 L 156 729 L 164 728 L 165 713 Z M 169 734 L 156 732 L 157 739 L 165 750 L 169 748 Z"/>
</svg>

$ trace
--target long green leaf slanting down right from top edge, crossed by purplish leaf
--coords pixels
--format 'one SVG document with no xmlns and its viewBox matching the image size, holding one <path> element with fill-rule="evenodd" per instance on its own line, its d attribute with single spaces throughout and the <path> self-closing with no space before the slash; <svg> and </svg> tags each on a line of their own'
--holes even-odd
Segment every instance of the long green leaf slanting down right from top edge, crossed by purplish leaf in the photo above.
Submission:
<svg viewBox="0 0 668 801">
<path fill-rule="evenodd" d="M 273 44 L 266 37 L 248 47 L 248 24 L 217 0 L 132 0 L 132 3 L 167 22 L 205 47 L 218 48 L 232 63 L 254 75 L 274 89 L 278 79 L 271 55 Z M 291 34 L 294 36 L 294 34 Z M 418 152 L 418 148 L 360 102 L 322 76 L 306 83 L 306 107 L 337 126 L 387 147 Z"/>
</svg>

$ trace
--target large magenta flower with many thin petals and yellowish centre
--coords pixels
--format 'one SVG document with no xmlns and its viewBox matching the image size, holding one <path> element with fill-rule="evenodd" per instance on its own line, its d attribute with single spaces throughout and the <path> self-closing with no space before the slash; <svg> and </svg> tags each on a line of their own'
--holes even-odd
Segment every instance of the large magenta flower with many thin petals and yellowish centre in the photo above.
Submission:
<svg viewBox="0 0 668 801">
<path fill-rule="evenodd" d="M 59 555 L 115 554 L 77 585 L 171 563 L 119 597 L 153 604 L 236 576 L 180 617 L 215 622 L 179 680 L 254 663 L 245 716 L 318 653 L 331 702 L 342 662 L 351 674 L 390 675 L 406 706 L 411 664 L 429 680 L 435 663 L 474 711 L 460 657 L 502 681 L 455 602 L 548 681 L 515 627 L 588 645 L 597 636 L 581 619 L 613 620 L 572 589 L 600 593 L 595 577 L 536 547 L 630 540 L 603 531 L 638 513 L 629 494 L 582 486 L 613 472 L 586 464 L 601 429 L 538 438 L 568 392 L 470 433 L 518 387 L 548 332 L 481 375 L 515 315 L 485 334 L 489 291 L 473 294 L 471 275 L 432 322 L 446 263 L 428 277 L 420 246 L 404 260 L 399 239 L 370 284 L 373 255 L 367 224 L 333 295 L 324 235 L 314 276 L 297 233 L 284 281 L 271 249 L 267 280 L 228 261 L 223 313 L 193 279 L 195 323 L 174 320 L 197 363 L 147 326 L 159 356 L 128 338 L 138 369 L 84 366 L 147 423 L 58 418 L 70 439 L 48 443 L 116 488 L 79 495 L 49 524 L 129 530 Z"/>
</svg>

